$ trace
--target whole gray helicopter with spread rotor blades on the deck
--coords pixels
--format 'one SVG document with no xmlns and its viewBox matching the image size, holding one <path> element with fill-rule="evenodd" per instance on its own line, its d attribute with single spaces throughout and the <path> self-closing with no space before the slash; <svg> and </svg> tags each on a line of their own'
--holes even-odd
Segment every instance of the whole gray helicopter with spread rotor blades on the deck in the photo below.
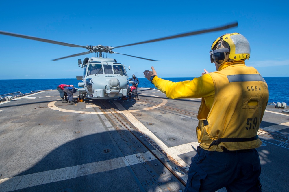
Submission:
<svg viewBox="0 0 289 192">
<path fill-rule="evenodd" d="M 47 43 L 52 43 L 52 44 L 58 44 L 58 45 L 63 45 L 63 46 L 69 46 L 69 47 L 85 48 L 88 50 L 86 52 L 77 53 L 77 54 L 69 55 L 66 57 L 61 57 L 58 59 L 52 59 L 53 61 L 57 61 L 57 60 L 65 59 L 69 57 L 76 57 L 80 55 L 90 54 L 90 53 L 95 53 L 95 57 L 91 57 L 91 58 L 86 57 L 83 59 L 83 61 L 81 59 L 77 60 L 78 67 L 83 68 L 83 74 L 82 76 L 76 77 L 77 80 L 82 81 L 78 83 L 78 87 L 81 87 L 81 88 L 78 88 L 79 99 L 86 98 L 88 100 L 90 99 L 93 100 L 93 99 L 110 99 L 110 98 L 117 98 L 117 97 L 125 97 L 128 95 L 127 89 L 129 87 L 129 83 L 132 83 L 132 81 L 129 81 L 129 77 L 125 69 L 126 66 L 121 63 L 118 63 L 116 59 L 104 57 L 104 53 L 105 55 L 107 55 L 107 53 L 122 54 L 122 53 L 114 52 L 113 49 L 126 47 L 126 46 L 133 46 L 133 45 L 138 45 L 138 44 L 144 44 L 144 43 L 163 41 L 163 40 L 168 40 L 168 39 L 175 39 L 175 38 L 186 37 L 186 36 L 192 36 L 192 35 L 198 35 L 198 34 L 209 33 L 213 31 L 221 31 L 221 30 L 228 29 L 231 27 L 236 27 L 236 26 L 238 26 L 238 22 L 223 25 L 221 27 L 214 27 L 210 29 L 203 29 L 203 30 L 192 31 L 188 33 L 181 33 L 178 35 L 172 35 L 168 37 L 162 37 L 162 38 L 127 44 L 127 45 L 122 45 L 122 46 L 116 46 L 116 47 L 103 46 L 103 45 L 81 46 L 81 45 L 53 41 L 49 39 L 32 37 L 28 35 L 21 35 L 21 34 L 6 32 L 6 31 L 0 31 L 0 34 L 20 37 L 20 38 L 25 38 L 25 39 L 31 39 L 31 40 L 41 41 L 41 42 L 47 42 Z M 97 54 L 97 57 L 96 57 L 96 54 Z M 128 55 L 128 54 L 122 54 L 122 55 L 126 55 L 129 57 L 136 57 L 139 59 L 145 59 L 149 61 L 158 61 L 154 59 L 137 57 L 137 56 Z M 130 70 L 130 66 L 127 67 L 127 69 Z"/>
</svg>

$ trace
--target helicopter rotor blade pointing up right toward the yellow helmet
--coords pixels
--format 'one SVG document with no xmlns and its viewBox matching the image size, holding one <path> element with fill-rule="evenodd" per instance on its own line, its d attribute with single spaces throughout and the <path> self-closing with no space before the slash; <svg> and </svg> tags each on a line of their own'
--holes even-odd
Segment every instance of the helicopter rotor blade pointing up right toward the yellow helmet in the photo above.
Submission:
<svg viewBox="0 0 289 192">
<path fill-rule="evenodd" d="M 211 29 L 203 29 L 203 30 L 199 30 L 199 31 L 192 31 L 192 32 L 188 32 L 188 33 L 182 33 L 179 35 L 172 35 L 172 36 L 168 36 L 168 37 L 162 37 L 162 38 L 158 38 L 158 39 L 152 39 L 152 40 L 148 40 L 148 41 L 142 41 L 142 42 L 138 42 L 138 43 L 132 43 L 132 44 L 127 44 L 127 45 L 122 45 L 122 46 L 117 46 L 117 47 L 113 47 L 112 49 L 115 48 L 120 48 L 120 47 L 126 47 L 126 46 L 132 46 L 132 45 L 138 45 L 138 44 L 144 44 L 144 43 L 151 43 L 151 42 L 157 42 L 157 41 L 163 41 L 163 40 L 167 40 L 167 39 L 175 39 L 175 38 L 179 38 L 179 37 L 187 37 L 187 36 L 191 36 L 191 35 L 199 35 L 202 33 L 209 33 L 209 32 L 213 32 L 213 31 L 221 31 L 224 29 L 228 29 L 231 27 L 236 27 L 238 26 L 238 22 L 229 24 L 229 25 L 224 25 L 221 27 L 215 27 L 215 28 L 211 28 Z"/>
</svg>

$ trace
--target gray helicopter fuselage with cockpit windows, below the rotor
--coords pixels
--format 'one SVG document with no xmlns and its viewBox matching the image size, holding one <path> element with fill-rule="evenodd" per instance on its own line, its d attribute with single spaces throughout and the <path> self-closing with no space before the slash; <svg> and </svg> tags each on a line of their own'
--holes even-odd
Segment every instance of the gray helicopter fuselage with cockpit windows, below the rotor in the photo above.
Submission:
<svg viewBox="0 0 289 192">
<path fill-rule="evenodd" d="M 80 59 L 79 59 L 80 60 Z M 78 60 L 78 61 L 79 61 Z M 79 61 L 84 69 L 82 76 L 77 76 L 80 99 L 109 99 L 127 95 L 129 78 L 125 66 L 115 59 L 92 57 Z"/>
</svg>

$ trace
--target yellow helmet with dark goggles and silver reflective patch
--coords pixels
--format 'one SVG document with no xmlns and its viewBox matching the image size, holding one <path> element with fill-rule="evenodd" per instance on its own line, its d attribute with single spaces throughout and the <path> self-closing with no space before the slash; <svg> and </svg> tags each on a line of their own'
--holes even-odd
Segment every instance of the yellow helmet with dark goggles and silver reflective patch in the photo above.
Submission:
<svg viewBox="0 0 289 192">
<path fill-rule="evenodd" d="M 221 66 L 229 59 L 249 59 L 251 48 L 246 37 L 240 33 L 227 33 L 214 41 L 210 51 L 211 63 Z"/>
</svg>

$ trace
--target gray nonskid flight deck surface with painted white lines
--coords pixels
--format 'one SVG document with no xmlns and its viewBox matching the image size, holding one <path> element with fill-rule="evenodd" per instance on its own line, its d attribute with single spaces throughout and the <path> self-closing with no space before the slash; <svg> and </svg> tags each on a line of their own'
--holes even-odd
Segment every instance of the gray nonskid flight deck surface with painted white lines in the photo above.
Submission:
<svg viewBox="0 0 289 192">
<path fill-rule="evenodd" d="M 198 146 L 194 114 L 201 100 L 168 99 L 155 89 L 139 88 L 138 93 L 138 99 L 109 102 L 188 168 Z M 257 149 L 262 191 L 286 191 L 289 115 L 280 114 L 281 109 L 268 107 L 266 111 L 259 131 L 264 144 Z M 56 90 L 2 103 L 0 191 L 184 189 L 135 137 L 126 133 L 103 113 L 98 102 L 67 105 L 61 103 Z M 186 175 L 182 179 L 186 180 Z"/>
</svg>

